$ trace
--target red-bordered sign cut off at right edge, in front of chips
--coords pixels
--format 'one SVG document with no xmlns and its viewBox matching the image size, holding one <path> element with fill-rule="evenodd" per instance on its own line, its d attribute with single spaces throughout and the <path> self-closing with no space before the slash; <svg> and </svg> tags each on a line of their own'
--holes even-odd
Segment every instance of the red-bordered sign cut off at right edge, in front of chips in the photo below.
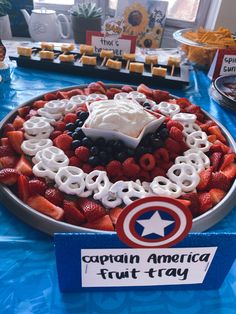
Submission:
<svg viewBox="0 0 236 314">
<path fill-rule="evenodd" d="M 236 49 L 220 49 L 215 54 L 208 77 L 215 80 L 230 74 L 236 74 Z"/>
</svg>

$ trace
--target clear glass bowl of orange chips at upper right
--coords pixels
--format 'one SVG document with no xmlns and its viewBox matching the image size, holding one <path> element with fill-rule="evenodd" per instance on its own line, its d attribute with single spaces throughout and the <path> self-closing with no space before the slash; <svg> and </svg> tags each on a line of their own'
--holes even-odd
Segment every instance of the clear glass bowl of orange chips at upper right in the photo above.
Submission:
<svg viewBox="0 0 236 314">
<path fill-rule="evenodd" d="M 186 59 L 201 68 L 209 69 L 218 49 L 236 49 L 236 38 L 229 29 L 219 27 L 207 30 L 203 27 L 180 29 L 173 34 L 180 43 L 180 49 Z"/>
</svg>

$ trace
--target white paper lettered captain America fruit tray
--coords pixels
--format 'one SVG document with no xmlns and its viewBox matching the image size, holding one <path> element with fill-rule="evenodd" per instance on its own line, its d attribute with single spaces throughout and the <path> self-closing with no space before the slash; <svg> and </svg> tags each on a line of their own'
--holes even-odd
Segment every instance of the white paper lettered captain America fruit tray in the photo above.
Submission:
<svg viewBox="0 0 236 314">
<path fill-rule="evenodd" d="M 200 284 L 216 250 L 81 249 L 82 287 Z"/>
</svg>

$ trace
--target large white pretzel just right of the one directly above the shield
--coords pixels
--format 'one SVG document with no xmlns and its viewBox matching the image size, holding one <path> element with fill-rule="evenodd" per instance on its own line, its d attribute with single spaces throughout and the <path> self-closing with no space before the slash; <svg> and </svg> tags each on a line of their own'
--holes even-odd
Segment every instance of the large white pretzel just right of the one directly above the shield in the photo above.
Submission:
<svg viewBox="0 0 236 314">
<path fill-rule="evenodd" d="M 167 171 L 167 176 L 172 182 L 176 183 L 183 192 L 193 191 L 200 182 L 200 177 L 195 168 L 187 164 L 173 165 Z"/>
</svg>

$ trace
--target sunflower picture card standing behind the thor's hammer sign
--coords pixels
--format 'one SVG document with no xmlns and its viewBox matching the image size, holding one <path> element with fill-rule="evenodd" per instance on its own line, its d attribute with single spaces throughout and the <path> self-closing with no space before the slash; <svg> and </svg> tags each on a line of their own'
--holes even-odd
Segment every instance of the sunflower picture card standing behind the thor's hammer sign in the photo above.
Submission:
<svg viewBox="0 0 236 314">
<path fill-rule="evenodd" d="M 166 20 L 167 1 L 119 0 L 116 16 L 124 19 L 124 34 L 137 35 L 137 46 L 158 48 Z"/>
</svg>

